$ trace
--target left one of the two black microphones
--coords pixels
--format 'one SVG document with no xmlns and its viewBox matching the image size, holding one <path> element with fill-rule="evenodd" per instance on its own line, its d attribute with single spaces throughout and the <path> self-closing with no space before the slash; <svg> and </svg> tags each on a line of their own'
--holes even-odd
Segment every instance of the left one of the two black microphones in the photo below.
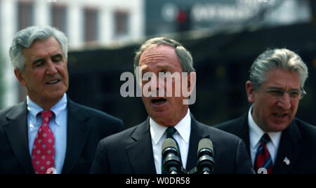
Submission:
<svg viewBox="0 0 316 188">
<path fill-rule="evenodd" d="M 177 145 L 171 138 L 167 138 L 162 142 L 162 159 L 164 170 L 169 174 L 178 174 L 181 172 L 181 163 L 178 157 Z"/>
</svg>

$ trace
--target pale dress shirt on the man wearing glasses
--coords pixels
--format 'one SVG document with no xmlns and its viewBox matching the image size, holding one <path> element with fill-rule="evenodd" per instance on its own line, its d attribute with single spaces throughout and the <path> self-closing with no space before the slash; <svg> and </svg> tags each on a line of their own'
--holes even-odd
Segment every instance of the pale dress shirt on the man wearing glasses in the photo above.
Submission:
<svg viewBox="0 0 316 188">
<path fill-rule="evenodd" d="M 248 124 L 249 124 L 249 142 L 250 142 L 250 153 L 251 153 L 251 163 L 254 166 L 256 160 L 257 149 L 260 145 L 259 141 L 261 137 L 265 134 L 263 130 L 254 122 L 251 115 L 252 107 L 248 112 Z M 272 163 L 275 164 L 275 159 L 277 158 L 277 149 L 279 148 L 279 140 L 281 139 L 282 132 L 270 132 L 268 135 L 272 142 L 267 143 L 267 149 L 270 153 Z"/>
</svg>

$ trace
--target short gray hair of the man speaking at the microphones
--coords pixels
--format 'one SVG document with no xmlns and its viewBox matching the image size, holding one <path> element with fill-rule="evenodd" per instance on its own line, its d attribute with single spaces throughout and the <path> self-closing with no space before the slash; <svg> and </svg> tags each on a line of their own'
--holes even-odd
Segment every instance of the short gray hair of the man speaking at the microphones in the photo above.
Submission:
<svg viewBox="0 0 316 188">
<path fill-rule="evenodd" d="M 136 52 L 134 58 L 134 74 L 136 75 L 136 67 L 138 67 L 140 55 L 143 54 L 149 48 L 154 48 L 159 45 L 168 45 L 176 49 L 176 53 L 178 55 L 180 65 L 183 69 L 183 72 L 195 72 L 193 68 L 193 58 L 192 55 L 187 49 L 185 49 L 180 43 L 173 39 L 168 39 L 166 37 L 157 37 L 153 39 L 149 39 L 140 46 L 139 50 Z"/>
</svg>

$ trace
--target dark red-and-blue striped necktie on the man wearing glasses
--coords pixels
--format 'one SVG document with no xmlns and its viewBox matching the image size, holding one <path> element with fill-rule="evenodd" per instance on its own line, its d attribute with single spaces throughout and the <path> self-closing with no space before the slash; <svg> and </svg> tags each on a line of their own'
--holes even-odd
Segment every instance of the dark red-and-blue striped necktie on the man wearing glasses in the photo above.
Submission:
<svg viewBox="0 0 316 188">
<path fill-rule="evenodd" d="M 266 146 L 268 142 L 270 142 L 270 137 L 267 133 L 265 133 L 261 137 L 260 145 L 257 149 L 256 161 L 254 165 L 254 170 L 256 171 L 256 173 L 258 173 L 258 171 L 262 173 L 266 172 L 268 174 L 272 172 L 272 168 L 273 168 L 272 159 L 268 151 L 268 148 Z"/>
</svg>

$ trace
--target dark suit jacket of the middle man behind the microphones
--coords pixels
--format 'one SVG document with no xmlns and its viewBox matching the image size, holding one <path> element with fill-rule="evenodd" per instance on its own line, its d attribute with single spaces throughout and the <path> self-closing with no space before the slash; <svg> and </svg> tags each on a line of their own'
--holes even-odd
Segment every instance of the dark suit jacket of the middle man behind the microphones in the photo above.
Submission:
<svg viewBox="0 0 316 188">
<path fill-rule="evenodd" d="M 187 170 L 197 164 L 199 140 L 213 142 L 216 166 L 213 173 L 253 173 L 244 142 L 235 135 L 199 123 L 191 115 Z M 149 118 L 138 126 L 101 140 L 91 173 L 155 174 Z"/>
</svg>

